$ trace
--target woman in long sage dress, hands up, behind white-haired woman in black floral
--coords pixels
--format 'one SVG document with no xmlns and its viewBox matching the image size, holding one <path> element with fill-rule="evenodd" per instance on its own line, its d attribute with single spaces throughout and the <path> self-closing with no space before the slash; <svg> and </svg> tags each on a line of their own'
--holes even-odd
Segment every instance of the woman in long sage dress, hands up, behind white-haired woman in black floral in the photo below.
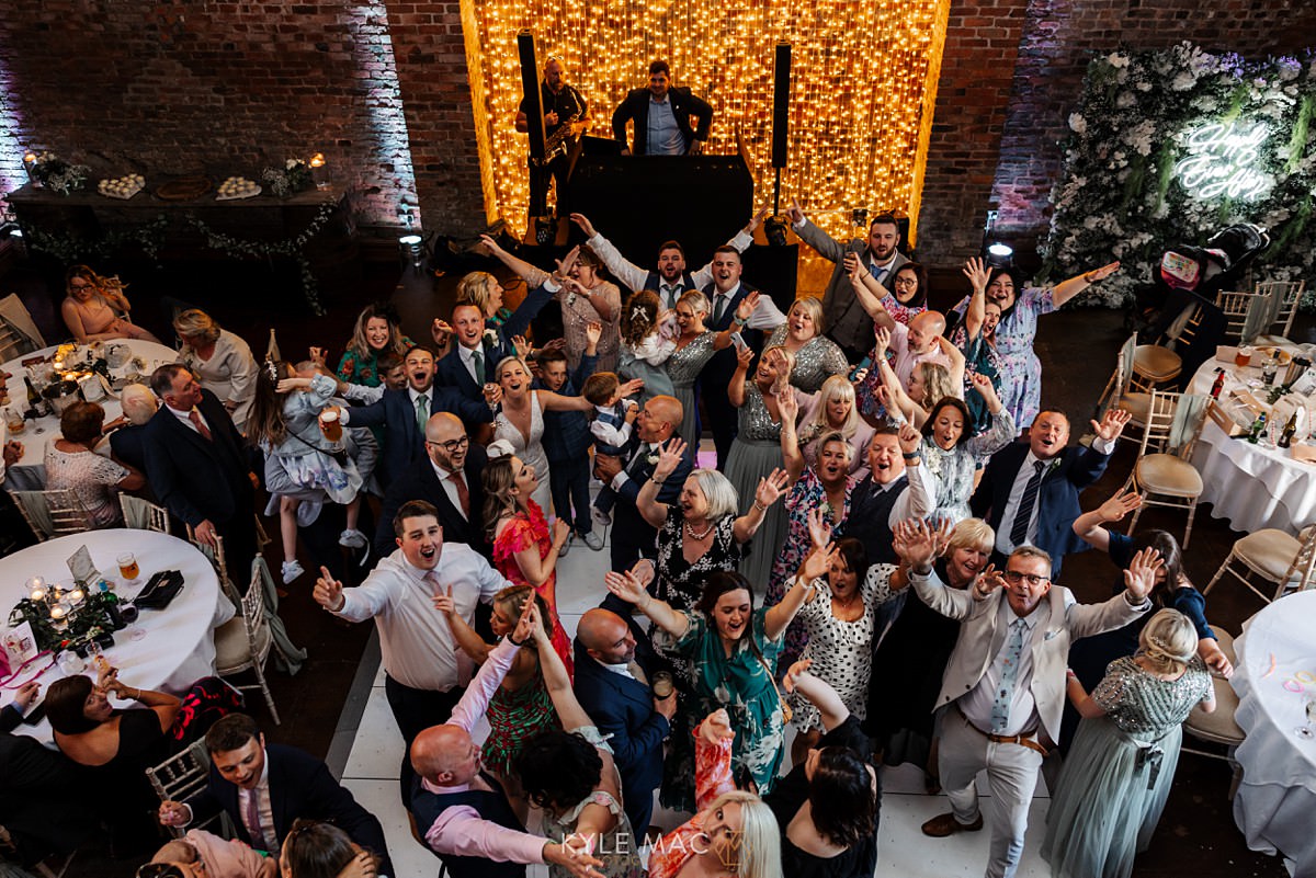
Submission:
<svg viewBox="0 0 1316 878">
<path fill-rule="evenodd" d="M 784 396 L 794 400 L 788 382 L 795 358 L 790 351 L 783 347 L 763 348 L 758 368 L 749 377 L 753 359 L 754 351 L 749 347 L 737 351 L 736 373 L 726 392 L 730 404 L 740 409 L 736 440 L 726 456 L 726 478 L 736 488 L 741 503 L 745 498 L 754 497 L 759 482 L 780 468 L 783 415 L 778 401 Z M 761 594 L 767 590 L 772 557 L 786 536 L 786 510 L 774 505 L 763 511 L 758 535 L 741 561 L 741 573 Z"/>
</svg>

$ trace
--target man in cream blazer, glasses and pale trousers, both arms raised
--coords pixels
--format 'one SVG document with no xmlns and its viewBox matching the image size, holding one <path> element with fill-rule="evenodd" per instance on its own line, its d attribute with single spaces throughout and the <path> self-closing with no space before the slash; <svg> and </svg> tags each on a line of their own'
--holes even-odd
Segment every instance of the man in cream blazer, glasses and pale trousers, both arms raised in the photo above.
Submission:
<svg viewBox="0 0 1316 878">
<path fill-rule="evenodd" d="M 949 527 L 934 530 L 911 519 L 898 527 L 894 542 L 919 599 L 962 622 L 937 697 L 937 761 L 951 814 L 928 820 L 923 832 L 944 837 L 982 829 L 974 778 L 986 769 L 995 800 L 986 875 L 1009 878 L 1024 850 L 1037 770 L 1061 733 L 1070 641 L 1146 612 L 1159 559 L 1134 559 L 1125 591 L 1098 605 L 1078 603 L 1069 589 L 1051 588 L 1051 560 L 1032 545 L 1016 548 L 1004 573 L 987 568 L 959 591 L 932 570 L 949 535 Z"/>
</svg>

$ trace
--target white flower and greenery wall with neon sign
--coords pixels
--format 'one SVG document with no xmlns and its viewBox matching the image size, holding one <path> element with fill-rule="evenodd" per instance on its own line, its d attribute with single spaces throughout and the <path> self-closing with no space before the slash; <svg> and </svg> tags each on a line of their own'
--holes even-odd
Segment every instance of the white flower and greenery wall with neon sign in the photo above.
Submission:
<svg viewBox="0 0 1316 878">
<path fill-rule="evenodd" d="M 1311 276 L 1313 108 L 1311 58 L 1249 62 L 1187 42 L 1099 55 L 1069 117 L 1044 275 L 1119 259 L 1124 269 L 1086 297 L 1117 306 L 1154 279 L 1166 248 L 1253 222 L 1271 235 L 1259 277 Z"/>
</svg>

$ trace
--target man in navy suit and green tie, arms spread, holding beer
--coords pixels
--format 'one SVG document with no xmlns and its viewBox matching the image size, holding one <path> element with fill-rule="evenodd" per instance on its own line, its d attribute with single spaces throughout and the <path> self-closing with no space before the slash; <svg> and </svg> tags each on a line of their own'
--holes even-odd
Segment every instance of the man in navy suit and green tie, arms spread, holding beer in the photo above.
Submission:
<svg viewBox="0 0 1316 878">
<path fill-rule="evenodd" d="M 379 402 L 347 409 L 343 425 L 354 427 L 384 426 L 384 447 L 380 450 L 379 484 L 388 488 L 407 468 L 425 456 L 425 425 L 430 415 L 451 411 L 466 422 L 467 428 L 494 421 L 491 404 L 501 398 L 501 390 L 491 389 L 483 402 L 465 398 L 453 388 L 434 385 L 434 354 L 416 346 L 407 351 L 407 388 L 384 390 Z M 388 520 L 388 519 L 384 519 Z"/>
</svg>

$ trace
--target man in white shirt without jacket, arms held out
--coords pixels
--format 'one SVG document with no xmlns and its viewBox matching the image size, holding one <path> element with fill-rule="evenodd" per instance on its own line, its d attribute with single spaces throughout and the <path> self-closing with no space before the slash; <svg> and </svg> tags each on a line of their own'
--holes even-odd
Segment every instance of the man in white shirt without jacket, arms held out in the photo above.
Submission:
<svg viewBox="0 0 1316 878">
<path fill-rule="evenodd" d="M 403 503 L 393 517 L 397 551 L 379 563 L 366 581 L 343 589 L 325 568 L 315 598 L 349 622 L 374 619 L 383 651 L 384 693 L 407 747 L 421 731 L 447 719 L 470 682 L 472 665 L 453 637 L 437 594 L 451 591 L 457 611 L 474 626 L 475 605 L 491 603 L 512 584 L 475 549 L 443 544 L 438 511 L 424 501 Z M 411 760 L 403 756 L 403 800 L 411 787 Z"/>
</svg>

